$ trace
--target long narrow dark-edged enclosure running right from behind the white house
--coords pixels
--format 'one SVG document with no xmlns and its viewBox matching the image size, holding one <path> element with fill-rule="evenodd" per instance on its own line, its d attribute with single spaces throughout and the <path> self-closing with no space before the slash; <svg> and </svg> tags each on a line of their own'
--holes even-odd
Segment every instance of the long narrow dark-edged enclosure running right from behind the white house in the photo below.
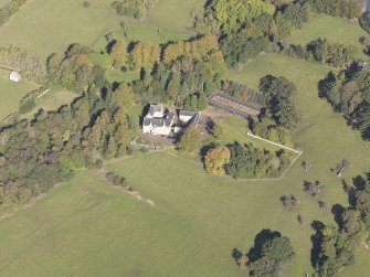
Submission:
<svg viewBox="0 0 370 277">
<path fill-rule="evenodd" d="M 244 118 L 257 117 L 261 115 L 263 107 L 239 100 L 229 95 L 213 94 L 208 98 L 211 107 L 223 109 L 230 114 L 237 115 Z"/>
</svg>

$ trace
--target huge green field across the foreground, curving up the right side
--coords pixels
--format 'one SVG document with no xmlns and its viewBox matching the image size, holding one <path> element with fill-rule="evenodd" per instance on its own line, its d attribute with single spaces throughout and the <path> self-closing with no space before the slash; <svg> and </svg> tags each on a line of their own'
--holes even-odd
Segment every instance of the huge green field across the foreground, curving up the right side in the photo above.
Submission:
<svg viewBox="0 0 370 277">
<path fill-rule="evenodd" d="M 302 113 L 294 140 L 313 163 L 305 173 L 296 163 L 275 182 L 234 182 L 204 174 L 191 160 L 176 152 L 137 155 L 107 169 L 127 177 L 150 207 L 125 192 L 109 188 L 94 171 L 76 177 L 32 207 L 0 224 L 0 270 L 6 276 L 243 276 L 231 251 L 247 249 L 262 228 L 282 232 L 296 251 L 288 276 L 311 271 L 313 220 L 332 223 L 330 212 L 303 191 L 303 182 L 327 185 L 323 200 L 347 205 L 340 180 L 331 172 L 340 159 L 352 167 L 350 182 L 369 170 L 369 143 L 352 131 L 330 106 L 317 96 L 317 82 L 327 70 L 278 55 L 262 55 L 242 73 L 229 77 L 256 87 L 265 74 L 285 75 L 297 85 Z M 325 118 L 325 120 L 324 120 Z M 300 160 L 302 161 L 302 160 Z M 302 200 L 299 212 L 283 209 L 282 195 Z M 360 249 L 355 266 L 343 277 L 366 276 L 369 251 Z M 22 260 L 19 266 L 18 260 Z"/>
</svg>

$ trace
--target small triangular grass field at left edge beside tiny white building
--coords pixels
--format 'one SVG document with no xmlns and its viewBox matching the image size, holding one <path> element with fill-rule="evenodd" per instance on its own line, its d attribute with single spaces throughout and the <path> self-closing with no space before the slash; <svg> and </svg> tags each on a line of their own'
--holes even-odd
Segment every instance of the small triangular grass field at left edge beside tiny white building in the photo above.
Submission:
<svg viewBox="0 0 370 277">
<path fill-rule="evenodd" d="M 0 120 L 17 111 L 20 99 L 38 87 L 28 81 L 11 82 L 9 81 L 9 72 L 0 71 Z"/>
</svg>

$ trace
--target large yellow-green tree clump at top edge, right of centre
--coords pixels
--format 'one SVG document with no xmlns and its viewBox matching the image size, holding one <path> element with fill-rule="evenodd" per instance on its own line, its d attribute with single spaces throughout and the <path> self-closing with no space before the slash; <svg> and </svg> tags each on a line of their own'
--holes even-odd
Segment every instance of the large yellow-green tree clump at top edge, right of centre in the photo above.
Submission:
<svg viewBox="0 0 370 277">
<path fill-rule="evenodd" d="M 277 42 L 308 21 L 309 6 L 262 0 L 212 0 L 201 15 L 194 11 L 199 33 L 219 35 L 228 66 L 246 62 L 261 52 L 278 47 Z"/>
</svg>

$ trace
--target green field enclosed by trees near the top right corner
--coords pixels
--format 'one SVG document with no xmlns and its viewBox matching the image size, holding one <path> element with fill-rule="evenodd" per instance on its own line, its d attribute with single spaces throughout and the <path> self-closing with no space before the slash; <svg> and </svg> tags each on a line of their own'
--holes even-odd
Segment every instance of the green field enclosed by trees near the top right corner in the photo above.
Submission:
<svg viewBox="0 0 370 277">
<path fill-rule="evenodd" d="M 369 60 L 369 56 L 362 52 L 364 46 L 359 43 L 361 36 L 369 38 L 369 34 L 358 22 L 350 22 L 347 19 L 330 15 L 315 14 L 303 29 L 294 31 L 293 35 L 287 39 L 287 42 L 305 45 L 318 38 L 326 38 L 330 42 L 357 46 L 357 57 Z"/>
</svg>

